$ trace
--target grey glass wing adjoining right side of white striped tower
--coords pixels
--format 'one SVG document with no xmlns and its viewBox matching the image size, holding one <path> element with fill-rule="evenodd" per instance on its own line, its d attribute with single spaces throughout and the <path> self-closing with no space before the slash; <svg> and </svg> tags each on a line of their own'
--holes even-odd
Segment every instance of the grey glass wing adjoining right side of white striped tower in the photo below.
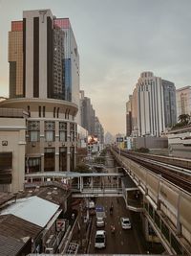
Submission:
<svg viewBox="0 0 191 256">
<path fill-rule="evenodd" d="M 176 87 L 174 82 L 161 80 L 163 87 L 165 128 L 171 128 L 177 123 Z"/>
</svg>

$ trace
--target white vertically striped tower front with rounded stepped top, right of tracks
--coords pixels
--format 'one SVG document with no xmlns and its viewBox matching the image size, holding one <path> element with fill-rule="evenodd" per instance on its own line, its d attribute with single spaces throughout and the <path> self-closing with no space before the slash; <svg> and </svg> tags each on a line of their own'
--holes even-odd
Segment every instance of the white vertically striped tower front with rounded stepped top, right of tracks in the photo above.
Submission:
<svg viewBox="0 0 191 256">
<path fill-rule="evenodd" d="M 164 130 L 163 87 L 152 72 L 138 79 L 138 136 L 159 136 Z"/>
</svg>

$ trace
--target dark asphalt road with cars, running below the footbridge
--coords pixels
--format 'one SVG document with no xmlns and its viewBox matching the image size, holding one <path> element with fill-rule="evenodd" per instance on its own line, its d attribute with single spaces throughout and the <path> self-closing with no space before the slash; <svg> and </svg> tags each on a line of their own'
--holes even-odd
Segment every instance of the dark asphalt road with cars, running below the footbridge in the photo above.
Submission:
<svg viewBox="0 0 191 256">
<path fill-rule="evenodd" d="M 113 215 L 110 215 L 109 209 L 112 202 L 114 204 L 114 212 Z M 96 217 L 94 217 L 88 253 L 141 254 L 142 249 L 138 242 L 138 232 L 136 228 L 132 228 L 131 230 L 123 230 L 120 224 L 120 217 L 129 217 L 131 220 L 130 212 L 126 209 L 123 198 L 119 198 L 118 203 L 117 198 L 97 198 L 96 205 L 103 205 L 105 207 L 106 224 L 103 229 L 106 230 L 107 242 L 106 248 L 95 248 L 95 236 L 97 228 Z M 115 234 L 111 233 L 111 224 L 115 224 Z"/>
</svg>

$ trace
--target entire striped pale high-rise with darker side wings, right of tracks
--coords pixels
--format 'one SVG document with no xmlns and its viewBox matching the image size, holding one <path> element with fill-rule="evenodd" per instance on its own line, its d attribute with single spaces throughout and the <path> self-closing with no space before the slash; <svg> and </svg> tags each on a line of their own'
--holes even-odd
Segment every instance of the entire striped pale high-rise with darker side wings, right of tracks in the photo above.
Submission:
<svg viewBox="0 0 191 256">
<path fill-rule="evenodd" d="M 126 104 L 127 136 L 157 136 L 177 123 L 176 87 L 143 72 Z"/>
</svg>

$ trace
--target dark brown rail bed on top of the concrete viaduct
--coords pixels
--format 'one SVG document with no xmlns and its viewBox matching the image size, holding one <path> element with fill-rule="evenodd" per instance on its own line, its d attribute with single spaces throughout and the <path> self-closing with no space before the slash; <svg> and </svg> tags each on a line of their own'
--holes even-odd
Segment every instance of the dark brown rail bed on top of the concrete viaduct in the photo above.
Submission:
<svg viewBox="0 0 191 256">
<path fill-rule="evenodd" d="M 127 151 L 120 151 L 120 154 L 137 162 L 139 165 L 149 169 L 157 175 L 176 184 L 181 189 L 191 193 L 191 171 L 174 165 L 169 165 L 147 157 L 148 154 L 139 154 Z M 149 159 L 148 159 L 149 158 Z M 161 160 L 160 160 L 161 161 Z"/>
</svg>

